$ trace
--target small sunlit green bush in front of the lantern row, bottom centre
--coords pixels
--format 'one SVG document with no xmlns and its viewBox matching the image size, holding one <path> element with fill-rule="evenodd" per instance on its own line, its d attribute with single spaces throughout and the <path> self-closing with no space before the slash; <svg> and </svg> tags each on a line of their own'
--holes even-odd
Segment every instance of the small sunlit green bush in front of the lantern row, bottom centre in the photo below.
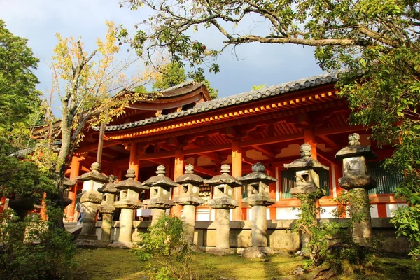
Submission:
<svg viewBox="0 0 420 280">
<path fill-rule="evenodd" d="M 197 279 L 191 270 L 190 246 L 183 237 L 183 221 L 178 217 L 163 216 L 141 233 L 137 255 L 148 261 L 150 279 Z"/>
</svg>

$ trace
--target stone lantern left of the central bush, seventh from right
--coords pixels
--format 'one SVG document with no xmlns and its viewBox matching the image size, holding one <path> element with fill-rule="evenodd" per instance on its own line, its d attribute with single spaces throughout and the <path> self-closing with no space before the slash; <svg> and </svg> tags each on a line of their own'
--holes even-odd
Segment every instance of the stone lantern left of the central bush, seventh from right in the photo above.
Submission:
<svg viewBox="0 0 420 280">
<path fill-rule="evenodd" d="M 114 205 L 121 209 L 120 214 L 120 235 L 118 242 L 113 246 L 132 247 L 132 228 L 134 209 L 139 209 L 143 206 L 139 202 L 139 195 L 149 188 L 143 186 L 141 182 L 134 180 L 136 177 L 134 169 L 127 170 L 127 180 L 118 182 L 115 187 L 120 191 L 120 200 Z"/>
</svg>

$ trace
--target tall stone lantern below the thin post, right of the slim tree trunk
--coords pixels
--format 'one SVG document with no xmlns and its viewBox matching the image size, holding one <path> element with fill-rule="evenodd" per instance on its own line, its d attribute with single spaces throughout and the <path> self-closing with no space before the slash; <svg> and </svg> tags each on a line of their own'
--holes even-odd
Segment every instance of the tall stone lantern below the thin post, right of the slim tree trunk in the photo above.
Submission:
<svg viewBox="0 0 420 280">
<path fill-rule="evenodd" d="M 82 246 L 94 245 L 91 244 L 92 240 L 98 239 L 95 223 L 97 211 L 102 202 L 102 195 L 98 192 L 98 189 L 109 180 L 108 176 L 99 172 L 99 167 L 99 163 L 94 162 L 90 168 L 91 172 L 87 172 L 77 177 L 79 181 L 83 181 L 80 203 L 83 205 L 85 214 L 83 217 L 82 231 L 80 232 L 80 235 L 78 235 L 76 243 Z"/>
</svg>

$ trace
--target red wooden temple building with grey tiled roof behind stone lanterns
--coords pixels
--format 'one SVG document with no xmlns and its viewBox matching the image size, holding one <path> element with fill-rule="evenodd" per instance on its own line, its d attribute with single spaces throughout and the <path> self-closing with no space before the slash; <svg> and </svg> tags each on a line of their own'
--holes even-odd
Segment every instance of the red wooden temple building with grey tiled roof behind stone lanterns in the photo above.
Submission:
<svg viewBox="0 0 420 280">
<path fill-rule="evenodd" d="M 337 77 L 323 74 L 290 83 L 283 83 L 241 94 L 211 100 L 202 83 L 186 82 L 159 92 L 158 97 L 125 108 L 125 114 L 104 128 L 102 149 L 99 148 L 99 127 L 90 127 L 83 143 L 73 155 L 66 172 L 76 179 L 90 172 L 101 153 L 100 172 L 125 180 L 127 169 L 133 169 L 135 180 L 146 181 L 155 176 L 159 165 L 165 166 L 166 176 L 176 181 L 186 165 L 193 165 L 194 174 L 204 181 L 221 174 L 222 165 L 230 165 L 235 178 L 252 172 L 257 162 L 265 166 L 268 176 L 277 179 L 269 183 L 268 220 L 290 220 L 297 217 L 293 207 L 299 200 L 292 197 L 295 172 L 284 164 L 300 158 L 300 146 L 311 145 L 311 157 L 328 167 L 319 174 L 319 184 L 325 196 L 318 203 L 325 209 L 318 218 L 330 218 L 337 207 L 332 197 L 342 193 L 338 179 L 343 176 L 342 161 L 335 154 L 348 144 L 351 133 L 360 134 L 360 144 L 370 146 L 377 158 L 367 167 L 377 186 L 369 190 L 372 218 L 391 216 L 391 211 L 405 204 L 395 199 L 393 190 L 402 180 L 398 174 L 388 174 L 381 161 L 392 153 L 391 147 L 380 149 L 370 140 L 366 127 L 349 125 L 350 110 L 346 99 L 337 97 Z M 66 221 L 75 221 L 77 195 L 83 181 L 69 189 L 72 203 L 66 207 Z M 199 186 L 204 202 L 213 199 L 213 186 Z M 248 190 L 233 188 L 232 197 L 238 207 L 230 209 L 230 221 L 252 220 L 252 207 L 244 200 Z M 151 198 L 151 190 L 141 193 L 139 200 Z M 172 188 L 170 199 L 179 197 L 182 186 Z M 116 198 L 118 200 L 118 196 Z M 177 204 L 167 211 L 182 216 L 183 206 Z M 137 209 L 134 218 L 152 219 L 151 209 Z M 114 215 L 118 219 L 118 215 Z M 196 207 L 195 221 L 215 221 L 216 211 L 208 204 Z"/>
</svg>

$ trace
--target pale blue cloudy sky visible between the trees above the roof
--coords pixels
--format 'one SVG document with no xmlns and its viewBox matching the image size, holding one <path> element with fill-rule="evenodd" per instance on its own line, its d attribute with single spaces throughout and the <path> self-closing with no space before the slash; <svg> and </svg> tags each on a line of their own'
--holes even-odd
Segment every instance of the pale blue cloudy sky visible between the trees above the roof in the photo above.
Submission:
<svg viewBox="0 0 420 280">
<path fill-rule="evenodd" d="M 0 18 L 15 35 L 28 38 L 34 55 L 41 59 L 36 76 L 38 89 L 48 90 L 51 85 L 50 61 L 57 41 L 55 34 L 82 36 L 87 50 L 93 50 L 94 41 L 106 32 L 105 20 L 122 23 L 129 29 L 148 17 L 146 8 L 131 11 L 119 8 L 118 0 L 0 0 Z M 264 22 L 250 19 L 243 32 L 264 29 Z M 201 28 L 195 32 L 203 43 L 220 45 L 223 37 L 217 31 Z M 235 57 L 232 52 L 218 58 L 221 73 L 207 73 L 211 86 L 225 97 L 251 90 L 253 85 L 276 85 L 322 73 L 313 55 L 313 49 L 298 45 L 240 45 Z"/>
</svg>

